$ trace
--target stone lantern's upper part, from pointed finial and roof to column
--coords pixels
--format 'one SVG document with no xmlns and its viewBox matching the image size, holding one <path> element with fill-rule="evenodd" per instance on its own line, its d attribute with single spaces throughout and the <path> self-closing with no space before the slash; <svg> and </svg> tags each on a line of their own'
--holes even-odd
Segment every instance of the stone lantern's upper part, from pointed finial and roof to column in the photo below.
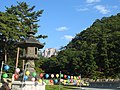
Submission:
<svg viewBox="0 0 120 90">
<path fill-rule="evenodd" d="M 17 46 L 23 49 L 23 56 L 21 57 L 25 60 L 27 64 L 27 70 L 30 72 L 35 72 L 34 61 L 38 60 L 38 50 L 44 47 L 38 40 L 34 38 L 35 32 L 31 29 L 27 33 L 27 38 L 20 41 Z"/>
</svg>

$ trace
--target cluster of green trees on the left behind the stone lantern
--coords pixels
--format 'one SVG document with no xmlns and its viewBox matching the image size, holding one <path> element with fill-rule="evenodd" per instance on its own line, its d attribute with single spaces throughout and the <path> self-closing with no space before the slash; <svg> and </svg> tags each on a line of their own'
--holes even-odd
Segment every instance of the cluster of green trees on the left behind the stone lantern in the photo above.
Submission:
<svg viewBox="0 0 120 90">
<path fill-rule="evenodd" d="M 25 39 L 31 29 L 38 32 L 38 21 L 43 10 L 34 11 L 35 6 L 30 7 L 26 2 L 17 2 L 17 5 L 6 7 L 5 12 L 0 12 L 0 54 L 1 60 L 5 56 L 15 61 L 16 43 Z M 36 38 L 46 38 L 38 35 Z M 10 61 L 11 62 L 11 61 Z"/>
</svg>

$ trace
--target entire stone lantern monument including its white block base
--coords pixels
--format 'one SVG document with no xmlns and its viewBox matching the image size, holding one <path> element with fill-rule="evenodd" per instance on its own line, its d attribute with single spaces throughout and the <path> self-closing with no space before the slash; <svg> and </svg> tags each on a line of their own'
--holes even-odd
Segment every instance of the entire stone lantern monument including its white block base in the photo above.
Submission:
<svg viewBox="0 0 120 90">
<path fill-rule="evenodd" d="M 38 60 L 38 50 L 43 48 L 44 45 L 41 44 L 34 37 L 35 32 L 33 28 L 27 33 L 27 38 L 23 41 L 20 41 L 17 46 L 23 49 L 22 60 L 25 60 L 25 68 L 23 71 L 23 79 L 22 81 L 13 81 L 12 82 L 12 90 L 45 90 L 45 83 L 36 83 L 32 82 L 32 74 L 30 74 L 29 79 L 24 81 L 25 71 L 29 71 L 30 73 L 35 72 L 35 60 Z"/>
</svg>

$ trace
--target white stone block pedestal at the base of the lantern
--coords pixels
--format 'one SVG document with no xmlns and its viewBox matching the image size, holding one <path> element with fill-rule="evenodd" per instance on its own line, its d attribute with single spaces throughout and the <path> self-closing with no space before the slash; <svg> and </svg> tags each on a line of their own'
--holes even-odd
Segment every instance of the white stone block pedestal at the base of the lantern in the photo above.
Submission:
<svg viewBox="0 0 120 90">
<path fill-rule="evenodd" d="M 12 90 L 45 90 L 45 82 L 38 83 L 32 81 L 13 81 Z"/>
</svg>

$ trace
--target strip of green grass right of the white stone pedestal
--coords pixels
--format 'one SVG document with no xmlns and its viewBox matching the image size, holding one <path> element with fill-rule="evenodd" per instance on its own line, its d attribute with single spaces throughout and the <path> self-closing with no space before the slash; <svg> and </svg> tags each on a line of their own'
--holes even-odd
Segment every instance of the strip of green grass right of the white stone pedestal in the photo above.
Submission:
<svg viewBox="0 0 120 90">
<path fill-rule="evenodd" d="M 73 90 L 75 89 L 75 87 L 73 86 L 60 86 L 59 89 L 59 85 L 46 85 L 46 89 L 45 90 Z"/>
</svg>

